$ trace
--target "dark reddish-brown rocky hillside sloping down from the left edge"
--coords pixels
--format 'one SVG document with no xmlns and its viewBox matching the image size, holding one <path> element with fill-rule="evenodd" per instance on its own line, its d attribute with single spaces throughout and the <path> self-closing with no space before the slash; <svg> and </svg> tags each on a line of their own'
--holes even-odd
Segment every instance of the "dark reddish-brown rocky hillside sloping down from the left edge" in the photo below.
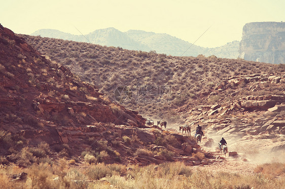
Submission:
<svg viewBox="0 0 285 189">
<path fill-rule="evenodd" d="M 0 44 L 0 163 L 216 161 L 192 137 L 146 127 L 137 111 L 110 102 L 8 28 L 0 28 Z"/>
</svg>

